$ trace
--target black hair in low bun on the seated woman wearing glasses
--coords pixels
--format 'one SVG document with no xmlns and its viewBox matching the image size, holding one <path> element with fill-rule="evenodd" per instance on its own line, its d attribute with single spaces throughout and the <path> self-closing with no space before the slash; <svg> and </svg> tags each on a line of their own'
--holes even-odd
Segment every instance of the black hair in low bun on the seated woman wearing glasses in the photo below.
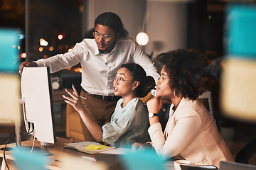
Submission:
<svg viewBox="0 0 256 170">
<path fill-rule="evenodd" d="M 147 94 L 149 94 L 149 91 L 154 89 L 156 86 L 154 78 L 151 76 L 146 76 L 145 70 L 139 64 L 127 63 L 122 64 L 121 68 L 123 67 L 129 70 L 133 77 L 133 81 L 140 82 L 139 86 L 137 87 L 138 97 L 145 97 Z"/>
</svg>

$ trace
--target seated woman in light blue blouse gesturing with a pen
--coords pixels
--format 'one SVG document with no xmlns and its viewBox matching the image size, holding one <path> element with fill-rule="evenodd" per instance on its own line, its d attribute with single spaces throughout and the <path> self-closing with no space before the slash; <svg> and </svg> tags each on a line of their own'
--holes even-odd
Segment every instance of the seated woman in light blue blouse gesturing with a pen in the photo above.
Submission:
<svg viewBox="0 0 256 170">
<path fill-rule="evenodd" d="M 139 64 L 122 64 L 115 75 L 113 86 L 114 95 L 122 96 L 122 98 L 117 101 L 110 123 L 102 127 L 82 106 L 82 101 L 74 86 L 73 91 L 65 89 L 70 97 L 63 96 L 64 101 L 78 111 L 83 123 L 97 142 L 106 142 L 114 147 L 131 148 L 134 142 L 148 141 L 149 134 L 146 132 L 149 128 L 148 113 L 139 97 L 145 97 L 151 89 L 154 89 L 154 78 L 146 76 L 146 72 Z"/>
</svg>

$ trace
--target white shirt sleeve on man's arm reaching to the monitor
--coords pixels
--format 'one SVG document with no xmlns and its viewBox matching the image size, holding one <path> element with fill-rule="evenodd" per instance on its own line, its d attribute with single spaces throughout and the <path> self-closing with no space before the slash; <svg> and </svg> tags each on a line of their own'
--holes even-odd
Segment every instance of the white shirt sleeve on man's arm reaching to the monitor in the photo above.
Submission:
<svg viewBox="0 0 256 170">
<path fill-rule="evenodd" d="M 50 73 L 58 72 L 62 69 L 73 67 L 82 61 L 82 48 L 80 44 L 76 44 L 73 50 L 65 54 L 55 55 L 48 59 L 40 59 L 36 61 L 38 67 L 49 67 Z M 86 53 L 86 52 L 85 52 Z"/>
</svg>

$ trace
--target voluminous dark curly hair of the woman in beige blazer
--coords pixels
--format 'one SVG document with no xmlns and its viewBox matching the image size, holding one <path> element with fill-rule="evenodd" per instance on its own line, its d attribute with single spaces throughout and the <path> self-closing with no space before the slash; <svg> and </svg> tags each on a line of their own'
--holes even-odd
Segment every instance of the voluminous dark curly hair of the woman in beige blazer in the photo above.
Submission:
<svg viewBox="0 0 256 170">
<path fill-rule="evenodd" d="M 156 58 L 165 65 L 169 86 L 176 96 L 195 100 L 212 82 L 212 77 L 206 72 L 206 55 L 198 50 L 178 49 L 161 53 Z"/>
</svg>

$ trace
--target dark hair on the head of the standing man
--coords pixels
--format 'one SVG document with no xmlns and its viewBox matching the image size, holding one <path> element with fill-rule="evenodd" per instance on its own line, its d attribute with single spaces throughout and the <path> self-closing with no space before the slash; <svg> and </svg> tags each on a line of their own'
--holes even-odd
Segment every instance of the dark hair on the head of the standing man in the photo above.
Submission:
<svg viewBox="0 0 256 170">
<path fill-rule="evenodd" d="M 114 30 L 114 33 L 120 34 L 120 37 L 127 37 L 129 35 L 128 31 L 124 28 L 123 23 L 117 14 L 112 12 L 105 12 L 97 16 L 95 19 L 95 28 L 97 24 L 102 26 L 107 26 Z"/>
</svg>

